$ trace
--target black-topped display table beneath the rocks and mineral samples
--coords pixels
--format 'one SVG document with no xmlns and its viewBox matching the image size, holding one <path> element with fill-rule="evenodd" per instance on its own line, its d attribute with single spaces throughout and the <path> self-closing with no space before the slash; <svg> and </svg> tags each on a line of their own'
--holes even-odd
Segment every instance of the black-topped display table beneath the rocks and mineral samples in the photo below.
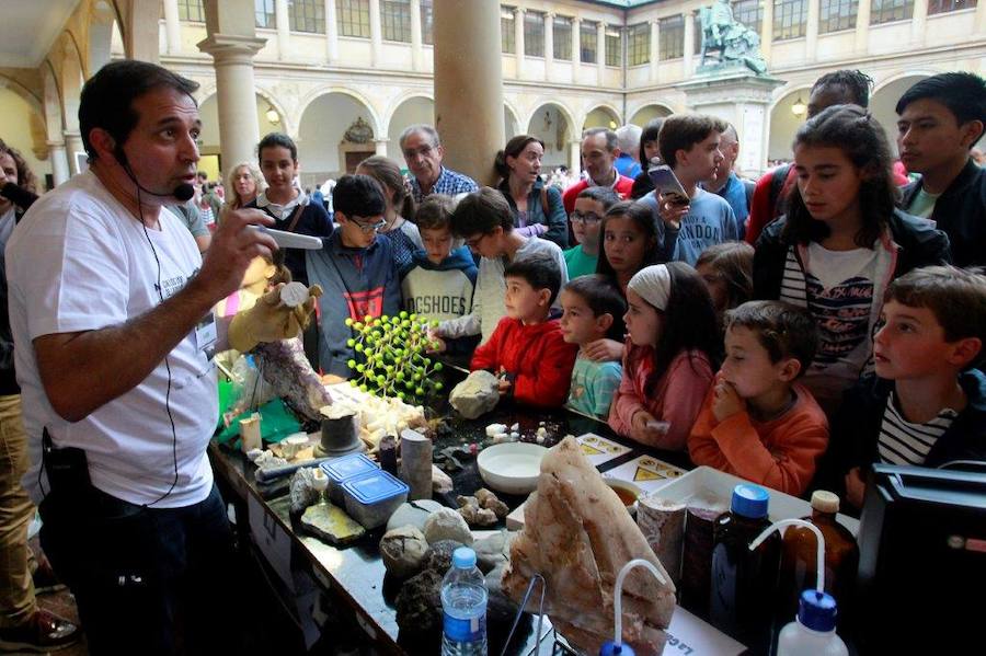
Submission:
<svg viewBox="0 0 986 656">
<path fill-rule="evenodd" d="M 461 372 L 449 372 L 448 376 L 450 382 L 454 383 L 455 378 L 460 377 Z M 626 453 L 600 464 L 599 469 L 604 472 L 626 465 L 642 454 L 676 467 L 688 467 L 684 453 L 643 449 L 640 445 L 616 436 L 605 423 L 565 410 L 546 412 L 506 405 L 497 407 L 489 415 L 475 421 L 452 416 L 454 413 L 448 413 L 446 406 L 432 410 L 445 416 L 451 427 L 450 431 L 443 431 L 443 435 L 435 439 L 434 450 L 436 453 L 447 447 L 481 442 L 485 438 L 485 427 L 491 423 L 508 426 L 516 423 L 519 425 L 521 435 L 531 435 L 543 422 L 551 435 L 549 445 L 546 446 L 550 446 L 569 434 L 575 436 L 595 434 L 629 447 Z M 336 548 L 326 544 L 302 532 L 300 523 L 290 518 L 286 490 L 272 496 L 270 490 L 257 485 L 254 479 L 255 467 L 242 453 L 229 447 L 213 444 L 209 454 L 217 479 L 226 493 L 232 493 L 234 497 L 227 500 L 236 504 L 241 539 L 248 538 L 249 531 L 250 539 L 256 543 L 267 561 L 270 569 L 277 575 L 280 585 L 284 586 L 282 592 L 287 591 L 295 596 L 296 600 L 301 599 L 306 590 L 299 590 L 299 587 L 305 588 L 305 585 L 298 585 L 298 572 L 310 573 L 318 586 L 331 596 L 333 602 L 343 603 L 355 612 L 368 640 L 375 644 L 378 651 L 395 654 L 437 653 L 431 645 L 409 644 L 400 635 L 393 606 L 397 585 L 390 577 L 385 578 L 386 571 L 378 549 L 380 537 L 383 533 L 382 528 L 370 531 L 365 538 L 349 546 Z M 456 507 L 455 496 L 457 494 L 472 494 L 478 487 L 483 486 L 475 460 L 469 460 L 463 464 L 462 470 L 452 474 L 454 493 L 445 495 L 446 498 L 436 497 L 451 507 Z M 520 497 L 500 496 L 512 509 L 524 502 L 524 498 Z M 502 528 L 502 526 L 492 528 Z M 695 621 L 701 624 L 699 620 Z M 524 637 L 512 643 L 509 653 L 530 654 L 534 652 L 536 641 L 531 635 L 532 629 L 529 623 L 525 629 Z M 711 630 L 711 628 L 709 629 Z M 551 653 L 548 643 L 553 645 L 552 636 L 553 633 L 549 632 L 548 637 L 542 638 L 544 653 Z M 505 636 L 500 636 L 500 640 L 502 641 L 503 637 Z M 498 647 L 494 652 L 491 644 L 490 653 L 498 652 Z M 698 652 L 692 653 L 698 654 Z"/>
</svg>

